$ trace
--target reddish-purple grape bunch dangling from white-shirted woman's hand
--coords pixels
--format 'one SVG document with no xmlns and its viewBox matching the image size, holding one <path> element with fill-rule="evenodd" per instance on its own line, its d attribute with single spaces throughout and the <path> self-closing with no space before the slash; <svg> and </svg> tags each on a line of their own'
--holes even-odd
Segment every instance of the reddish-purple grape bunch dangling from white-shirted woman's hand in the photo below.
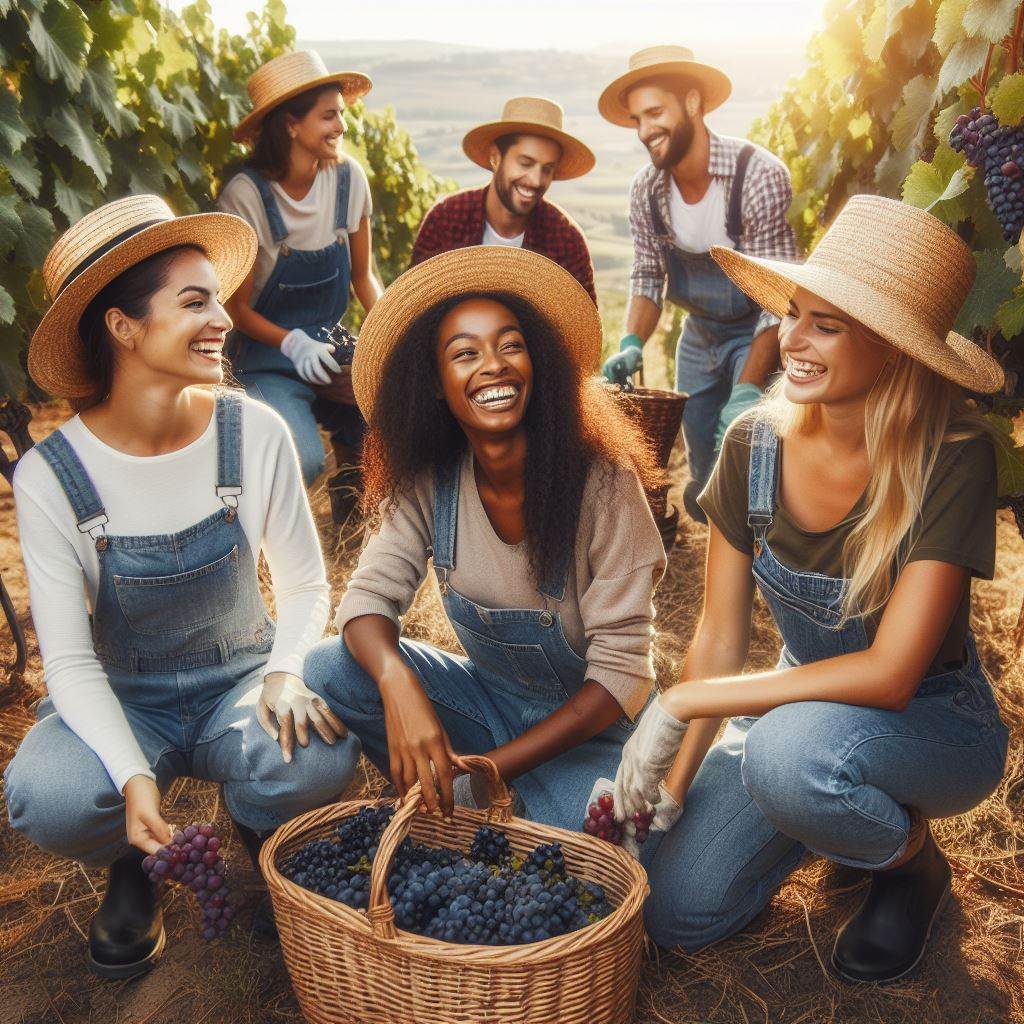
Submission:
<svg viewBox="0 0 1024 1024">
<path fill-rule="evenodd" d="M 170 843 L 143 859 L 142 870 L 151 882 L 177 882 L 196 894 L 204 939 L 215 939 L 227 931 L 240 901 L 228 902 L 220 837 L 213 825 L 193 824 L 174 833 Z"/>
</svg>

